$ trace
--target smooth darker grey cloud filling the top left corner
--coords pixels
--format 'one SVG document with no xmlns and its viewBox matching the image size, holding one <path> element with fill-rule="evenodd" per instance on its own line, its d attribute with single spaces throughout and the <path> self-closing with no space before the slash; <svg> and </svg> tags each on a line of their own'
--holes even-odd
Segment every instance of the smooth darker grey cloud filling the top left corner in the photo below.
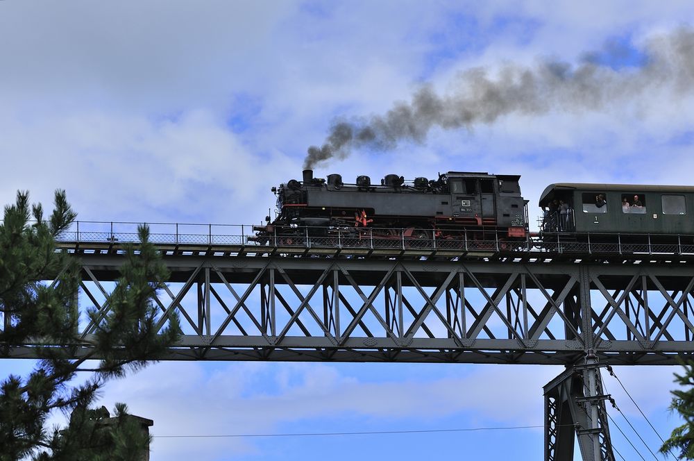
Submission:
<svg viewBox="0 0 694 461">
<path fill-rule="evenodd" d="M 252 80 L 248 63 L 266 56 L 269 33 L 294 4 L 72 0 L 0 9 L 5 97 L 179 110 L 214 105 Z"/>
</svg>

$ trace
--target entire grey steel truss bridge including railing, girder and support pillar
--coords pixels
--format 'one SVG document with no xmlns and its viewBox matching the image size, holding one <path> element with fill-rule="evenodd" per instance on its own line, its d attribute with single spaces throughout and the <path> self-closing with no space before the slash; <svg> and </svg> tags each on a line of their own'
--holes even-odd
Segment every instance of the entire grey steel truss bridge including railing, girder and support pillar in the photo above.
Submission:
<svg viewBox="0 0 694 461">
<path fill-rule="evenodd" d="M 58 246 L 81 260 L 81 309 L 104 315 L 135 226 L 78 226 Z M 548 461 L 573 460 L 575 438 L 584 460 L 614 459 L 600 367 L 694 352 L 684 237 L 508 246 L 362 232 L 261 245 L 250 226 L 185 226 L 151 226 L 171 272 L 155 299 L 159 326 L 171 312 L 181 319 L 171 360 L 561 364 L 545 386 Z M 81 324 L 76 356 L 95 328 Z M 9 355 L 32 357 L 33 345 Z"/>
</svg>

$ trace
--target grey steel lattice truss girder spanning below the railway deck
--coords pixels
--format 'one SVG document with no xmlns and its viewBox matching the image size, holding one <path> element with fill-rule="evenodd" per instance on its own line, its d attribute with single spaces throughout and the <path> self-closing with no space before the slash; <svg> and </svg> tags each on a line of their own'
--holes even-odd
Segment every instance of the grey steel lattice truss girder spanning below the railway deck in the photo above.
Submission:
<svg viewBox="0 0 694 461">
<path fill-rule="evenodd" d="M 81 308 L 105 315 L 123 256 L 81 258 Z M 165 255 L 171 360 L 672 364 L 694 351 L 694 267 L 500 258 Z M 81 325 L 89 349 L 94 324 Z M 80 347 L 75 349 L 80 354 Z M 31 356 L 33 345 L 12 347 Z"/>
</svg>

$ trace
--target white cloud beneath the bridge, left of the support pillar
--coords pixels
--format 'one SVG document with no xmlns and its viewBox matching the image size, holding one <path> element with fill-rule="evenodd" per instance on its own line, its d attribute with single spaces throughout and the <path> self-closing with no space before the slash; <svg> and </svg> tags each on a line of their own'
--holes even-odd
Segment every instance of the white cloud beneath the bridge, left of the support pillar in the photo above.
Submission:
<svg viewBox="0 0 694 461">
<path fill-rule="evenodd" d="M 204 367 L 200 363 L 149 367 L 108 385 L 106 405 L 127 402 L 133 414 L 155 421 L 155 435 L 266 434 L 278 428 L 293 432 L 287 427 L 300 427 L 296 424 L 303 421 L 330 424 L 344 417 L 366 419 L 380 430 L 394 424 L 423 428 L 453 415 L 468 421 L 457 428 L 470 426 L 469 421 L 534 425 L 542 421 L 541 386 L 561 371 L 449 365 L 451 376 L 428 376 L 434 366 L 421 364 L 407 366 L 413 371 L 417 367 L 419 378 L 367 382 L 344 374 L 339 365 L 233 363 L 212 372 Z M 514 383 L 513 392 L 509 383 Z M 329 426 L 325 431 L 330 432 Z M 222 453 L 262 455 L 255 439 L 185 439 L 185 444 L 155 439 L 153 450 L 153 459 L 167 460 L 216 459 Z"/>
</svg>

